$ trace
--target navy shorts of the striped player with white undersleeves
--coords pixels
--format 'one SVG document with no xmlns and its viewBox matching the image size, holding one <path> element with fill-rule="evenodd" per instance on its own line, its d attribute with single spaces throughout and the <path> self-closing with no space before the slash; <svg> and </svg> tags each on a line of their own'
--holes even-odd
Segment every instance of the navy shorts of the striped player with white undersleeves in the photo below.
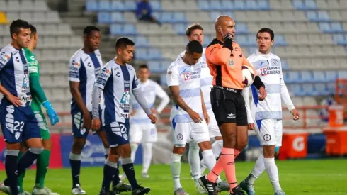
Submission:
<svg viewBox="0 0 347 195">
<path fill-rule="evenodd" d="M 129 123 L 113 122 L 103 126 L 110 147 L 118 147 L 129 143 Z"/>
</svg>

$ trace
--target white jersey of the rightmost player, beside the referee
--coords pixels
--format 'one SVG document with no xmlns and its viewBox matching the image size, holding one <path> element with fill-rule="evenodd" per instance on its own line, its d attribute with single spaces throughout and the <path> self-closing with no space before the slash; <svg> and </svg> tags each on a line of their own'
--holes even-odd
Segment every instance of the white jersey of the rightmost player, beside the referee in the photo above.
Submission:
<svg viewBox="0 0 347 195">
<path fill-rule="evenodd" d="M 246 99 L 247 118 L 249 123 L 262 119 L 282 119 L 282 104 L 284 101 L 289 110 L 295 109 L 290 99 L 288 89 L 283 80 L 280 57 L 273 53 L 263 54 L 256 50 L 247 58 L 258 72 L 261 81 L 265 84 L 266 99 L 258 101 L 258 91 L 251 85 L 252 100 L 251 111 L 249 111 L 248 94 L 249 89 L 244 89 Z"/>
</svg>

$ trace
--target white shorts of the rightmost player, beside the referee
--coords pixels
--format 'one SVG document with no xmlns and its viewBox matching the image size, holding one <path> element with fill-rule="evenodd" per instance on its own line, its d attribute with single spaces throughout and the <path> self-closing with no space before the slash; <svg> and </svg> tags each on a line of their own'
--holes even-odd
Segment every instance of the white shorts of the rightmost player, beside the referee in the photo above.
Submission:
<svg viewBox="0 0 347 195">
<path fill-rule="evenodd" d="M 263 119 L 256 121 L 254 126 L 261 145 L 282 145 L 282 120 Z"/>
</svg>

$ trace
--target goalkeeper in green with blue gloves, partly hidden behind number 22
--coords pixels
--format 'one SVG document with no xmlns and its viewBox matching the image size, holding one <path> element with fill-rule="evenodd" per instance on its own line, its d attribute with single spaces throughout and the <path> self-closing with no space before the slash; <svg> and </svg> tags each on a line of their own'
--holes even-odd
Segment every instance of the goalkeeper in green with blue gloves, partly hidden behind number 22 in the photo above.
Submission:
<svg viewBox="0 0 347 195">
<path fill-rule="evenodd" d="M 32 95 L 31 109 L 35 113 L 35 117 L 38 120 L 38 126 L 40 127 L 40 134 L 42 138 L 42 144 L 45 150 L 40 154 L 36 162 L 36 180 L 33 188 L 33 195 L 59 195 L 53 193 L 50 189 L 45 187 L 45 177 L 47 174 L 47 168 L 50 162 L 50 150 L 52 149 L 52 140 L 50 139 L 50 130 L 48 129 L 45 116 L 41 111 L 41 105 L 45 107 L 47 116 L 50 118 L 50 123 L 54 126 L 59 122 L 59 117 L 53 109 L 50 101 L 47 100 L 45 92 L 40 85 L 40 69 L 38 66 L 38 60 L 33 54 L 33 50 L 36 48 L 38 43 L 38 34 L 36 28 L 30 25 L 30 42 L 28 48 L 25 48 L 25 57 L 28 60 L 28 71 L 30 81 L 30 93 Z M 20 152 L 21 154 L 21 152 Z M 20 157 L 21 155 L 18 155 Z M 24 194 L 23 191 L 23 179 L 25 172 L 18 176 L 19 192 Z"/>
</svg>

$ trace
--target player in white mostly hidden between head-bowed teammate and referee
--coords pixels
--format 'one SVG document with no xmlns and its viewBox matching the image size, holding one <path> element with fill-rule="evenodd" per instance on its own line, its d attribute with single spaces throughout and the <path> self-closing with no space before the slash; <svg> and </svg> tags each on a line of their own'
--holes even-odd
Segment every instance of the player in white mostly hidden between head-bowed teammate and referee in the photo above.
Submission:
<svg viewBox="0 0 347 195">
<path fill-rule="evenodd" d="M 186 36 L 189 41 L 191 40 L 198 40 L 201 45 L 203 45 L 204 42 L 204 32 L 203 32 L 203 26 L 201 26 L 199 23 L 193 23 L 192 25 L 188 26 L 186 29 Z M 201 67 L 201 75 L 200 75 L 200 88 L 203 93 L 203 98 L 205 101 L 205 106 L 207 109 L 208 116 L 210 117 L 210 123 L 208 123 L 208 130 L 209 135 L 211 139 L 214 139 L 215 142 L 212 144 L 212 151 L 215 155 L 215 158 L 219 157 L 220 152 L 222 151 L 222 135 L 220 134 L 220 129 L 218 128 L 217 121 L 215 119 L 215 114 L 212 111 L 211 108 L 211 101 L 210 101 L 210 92 L 212 87 L 212 75 L 210 74 L 210 69 L 208 69 L 206 64 L 206 57 L 205 57 L 205 50 L 206 48 L 203 48 L 203 56 L 200 57 L 199 64 Z M 185 55 L 186 51 L 182 52 L 181 55 L 178 55 L 178 57 L 183 57 Z M 192 170 L 191 174 L 195 181 L 195 186 L 200 193 L 205 193 L 205 189 L 201 188 L 198 179 L 201 177 L 201 173 L 204 172 L 206 165 L 205 160 L 201 160 L 200 162 L 200 155 L 199 155 L 199 146 L 197 143 L 190 143 L 189 145 L 189 152 L 188 152 L 188 160 L 190 169 Z M 222 182 L 220 177 L 218 177 L 217 180 L 217 191 L 229 191 L 229 184 L 226 182 Z"/>
</svg>

